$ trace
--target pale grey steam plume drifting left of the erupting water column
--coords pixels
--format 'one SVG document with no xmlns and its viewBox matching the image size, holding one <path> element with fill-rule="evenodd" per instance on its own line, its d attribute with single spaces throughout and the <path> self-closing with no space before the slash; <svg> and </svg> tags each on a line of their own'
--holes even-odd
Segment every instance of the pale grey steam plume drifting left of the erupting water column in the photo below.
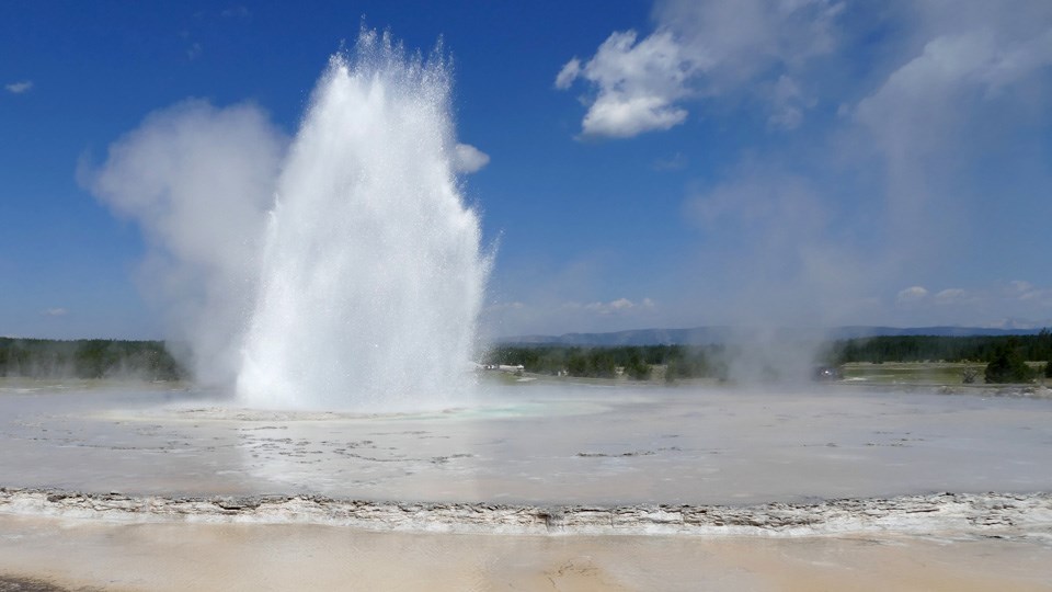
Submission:
<svg viewBox="0 0 1052 592">
<path fill-rule="evenodd" d="M 145 292 L 191 344 L 203 380 L 227 380 L 255 293 L 256 258 L 286 138 L 252 104 L 190 100 L 148 115 L 81 183 L 135 220 Z"/>
</svg>

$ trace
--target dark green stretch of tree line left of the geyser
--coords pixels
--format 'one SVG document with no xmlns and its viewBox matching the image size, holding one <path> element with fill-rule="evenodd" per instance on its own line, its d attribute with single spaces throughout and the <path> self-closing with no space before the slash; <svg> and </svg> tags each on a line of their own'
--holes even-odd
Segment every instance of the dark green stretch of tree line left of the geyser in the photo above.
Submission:
<svg viewBox="0 0 1052 592">
<path fill-rule="evenodd" d="M 187 373 L 163 341 L 0 338 L 0 376 L 178 380 Z"/>
</svg>

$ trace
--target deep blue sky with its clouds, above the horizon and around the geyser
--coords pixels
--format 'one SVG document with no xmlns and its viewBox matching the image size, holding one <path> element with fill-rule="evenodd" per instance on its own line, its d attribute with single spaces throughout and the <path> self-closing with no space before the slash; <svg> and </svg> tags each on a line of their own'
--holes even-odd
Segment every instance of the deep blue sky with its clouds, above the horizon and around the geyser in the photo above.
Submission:
<svg viewBox="0 0 1052 592">
<path fill-rule="evenodd" d="M 0 4 L 0 334 L 164 337 L 78 168 L 187 99 L 295 135 L 363 18 L 453 56 L 488 334 L 1052 325 L 1044 0 L 69 1 Z"/>
</svg>

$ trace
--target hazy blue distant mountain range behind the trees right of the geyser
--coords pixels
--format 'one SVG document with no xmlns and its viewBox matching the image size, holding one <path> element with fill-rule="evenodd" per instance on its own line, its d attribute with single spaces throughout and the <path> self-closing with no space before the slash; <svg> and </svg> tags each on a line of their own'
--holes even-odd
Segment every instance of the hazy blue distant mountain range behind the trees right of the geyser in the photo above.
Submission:
<svg viewBox="0 0 1052 592">
<path fill-rule="evenodd" d="M 634 329 L 610 333 L 564 333 L 561 335 L 514 335 L 496 340 L 506 345 L 709 345 L 732 341 L 837 340 L 880 335 L 990 337 L 1032 335 L 1040 329 L 990 329 L 983 327 L 867 327 L 830 329 L 759 329 L 740 327 L 695 327 L 693 329 Z"/>
</svg>

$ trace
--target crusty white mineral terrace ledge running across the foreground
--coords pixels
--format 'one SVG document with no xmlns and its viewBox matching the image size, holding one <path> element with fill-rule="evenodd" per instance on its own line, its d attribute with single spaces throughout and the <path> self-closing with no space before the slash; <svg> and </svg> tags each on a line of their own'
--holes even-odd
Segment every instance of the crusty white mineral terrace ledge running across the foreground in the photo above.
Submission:
<svg viewBox="0 0 1052 592">
<path fill-rule="evenodd" d="M 164 498 L 0 489 L 0 512 L 125 523 L 323 524 L 381 532 L 765 537 L 895 533 L 1031 538 L 1052 544 L 1052 496 L 1047 493 L 940 493 L 744 506 L 536 506 L 320 496 Z"/>
</svg>

